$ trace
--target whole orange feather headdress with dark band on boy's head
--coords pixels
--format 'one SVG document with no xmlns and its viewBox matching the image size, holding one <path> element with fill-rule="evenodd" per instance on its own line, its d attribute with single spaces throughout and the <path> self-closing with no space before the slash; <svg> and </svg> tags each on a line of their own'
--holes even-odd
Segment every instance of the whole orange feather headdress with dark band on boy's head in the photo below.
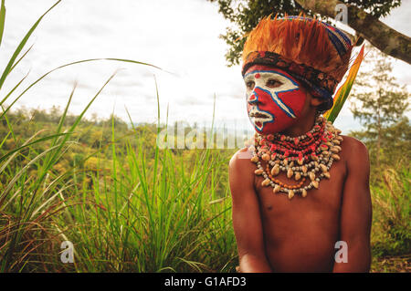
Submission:
<svg viewBox="0 0 411 291">
<path fill-rule="evenodd" d="M 243 75 L 253 65 L 286 70 L 332 107 L 332 94 L 350 63 L 353 42 L 342 30 L 305 16 L 263 18 L 243 49 Z"/>
</svg>

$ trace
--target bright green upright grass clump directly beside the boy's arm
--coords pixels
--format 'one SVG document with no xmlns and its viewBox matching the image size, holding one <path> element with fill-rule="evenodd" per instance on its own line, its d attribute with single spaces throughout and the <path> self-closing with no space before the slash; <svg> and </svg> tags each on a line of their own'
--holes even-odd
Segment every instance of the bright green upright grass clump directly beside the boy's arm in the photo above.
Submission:
<svg viewBox="0 0 411 291">
<path fill-rule="evenodd" d="M 84 187 L 82 203 L 64 211 L 75 222 L 65 235 L 75 244 L 76 270 L 229 270 L 235 256 L 230 205 L 212 193 L 227 159 L 205 150 L 188 165 L 170 150 L 150 157 L 142 146 L 127 142 L 124 152 L 115 144 L 110 173 L 96 169 L 93 195 Z"/>
</svg>

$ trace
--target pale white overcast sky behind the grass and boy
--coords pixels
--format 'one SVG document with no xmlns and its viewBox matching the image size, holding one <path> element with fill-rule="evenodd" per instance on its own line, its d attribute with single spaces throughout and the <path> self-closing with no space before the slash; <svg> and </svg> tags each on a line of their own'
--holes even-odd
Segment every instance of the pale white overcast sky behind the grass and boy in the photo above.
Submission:
<svg viewBox="0 0 411 291">
<path fill-rule="evenodd" d="M 5 36 L 0 67 L 5 64 L 26 31 L 55 0 L 6 0 Z M 411 0 L 382 19 L 411 36 Z M 38 26 L 28 45 L 33 49 L 6 80 L 3 92 L 13 88 L 30 71 L 26 86 L 52 68 L 86 58 L 118 57 L 153 64 L 100 61 L 63 68 L 30 89 L 17 107 L 64 108 L 73 83 L 79 87 L 70 111 L 78 114 L 117 69 L 117 75 L 90 107 L 101 118 L 111 112 L 134 122 L 155 122 L 159 88 L 162 121 L 167 105 L 169 120 L 209 123 L 216 95 L 216 120 L 248 125 L 245 89 L 239 67 L 227 68 L 226 43 L 218 36 L 229 26 L 218 8 L 205 0 L 63 0 Z M 410 66 L 395 60 L 394 74 L 411 89 Z M 170 74 L 168 72 L 173 72 Z M 26 87 L 25 87 L 26 88 Z M 2 97 L 5 93 L 2 94 Z M 344 133 L 359 128 L 346 106 L 335 122 Z"/>
</svg>

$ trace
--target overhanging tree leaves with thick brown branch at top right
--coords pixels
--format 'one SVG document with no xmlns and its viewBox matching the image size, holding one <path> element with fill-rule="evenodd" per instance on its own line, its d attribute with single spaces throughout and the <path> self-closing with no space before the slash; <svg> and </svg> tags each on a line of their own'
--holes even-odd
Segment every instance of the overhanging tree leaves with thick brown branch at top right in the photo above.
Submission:
<svg viewBox="0 0 411 291">
<path fill-rule="evenodd" d="M 335 16 L 335 5 L 348 6 L 348 26 L 351 26 L 360 39 L 367 39 L 385 54 L 411 64 L 411 40 L 378 20 L 388 16 L 390 11 L 401 5 L 401 0 L 208 0 L 216 2 L 219 12 L 234 26 L 227 27 L 221 37 L 229 49 L 226 54 L 227 65 L 238 65 L 245 42 L 245 36 L 258 25 L 262 17 L 272 14 L 278 16 L 299 15 L 317 16 L 329 22 Z"/>
</svg>

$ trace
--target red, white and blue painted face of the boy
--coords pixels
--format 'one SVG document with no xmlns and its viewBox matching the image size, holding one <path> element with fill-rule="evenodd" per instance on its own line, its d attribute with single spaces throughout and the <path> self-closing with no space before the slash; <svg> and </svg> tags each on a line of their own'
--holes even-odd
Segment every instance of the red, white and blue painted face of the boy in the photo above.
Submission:
<svg viewBox="0 0 411 291">
<path fill-rule="evenodd" d="M 256 65 L 248 68 L 244 81 L 248 117 L 258 133 L 279 132 L 299 120 L 306 92 L 287 72 Z"/>
</svg>

